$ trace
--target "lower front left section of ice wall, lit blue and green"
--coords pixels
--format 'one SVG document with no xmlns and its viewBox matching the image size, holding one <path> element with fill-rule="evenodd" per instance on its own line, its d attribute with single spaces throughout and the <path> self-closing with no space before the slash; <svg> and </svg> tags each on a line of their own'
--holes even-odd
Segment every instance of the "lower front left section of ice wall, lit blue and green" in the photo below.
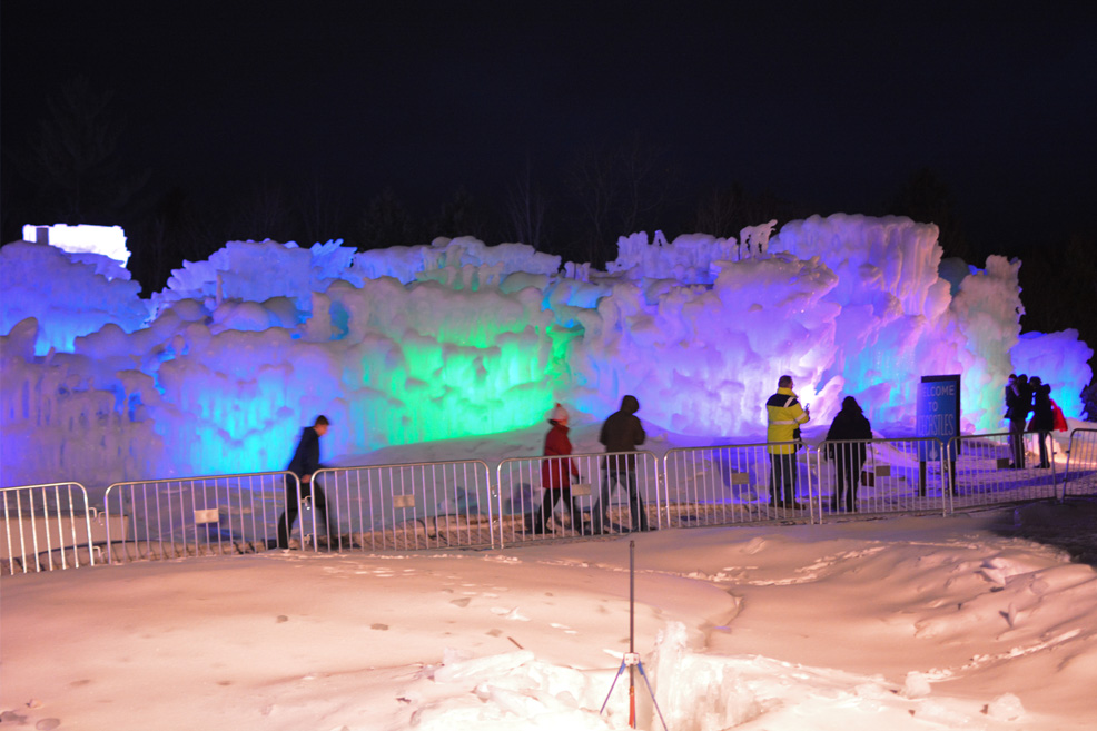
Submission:
<svg viewBox="0 0 1097 731">
<path fill-rule="evenodd" d="M 318 413 L 339 425 L 325 442 L 328 455 L 365 454 L 524 427 L 553 403 L 560 365 L 536 289 L 455 293 L 381 278 L 315 294 L 308 318 L 287 302 L 224 302 L 208 312 L 178 300 L 137 336 L 107 326 L 47 363 L 24 363 L 37 329 L 24 322 L 4 342 L 4 482 L 53 474 L 59 454 L 91 465 L 71 450 L 100 434 L 111 444 L 140 434 L 160 445 L 155 468 L 131 460 L 110 471 L 113 478 L 228 474 L 284 467 L 302 424 Z M 49 394 L 65 408 L 37 405 Z M 85 416 L 73 421 L 73 408 Z M 9 462 L 9 432 L 24 442 L 37 435 L 41 454 Z"/>
</svg>

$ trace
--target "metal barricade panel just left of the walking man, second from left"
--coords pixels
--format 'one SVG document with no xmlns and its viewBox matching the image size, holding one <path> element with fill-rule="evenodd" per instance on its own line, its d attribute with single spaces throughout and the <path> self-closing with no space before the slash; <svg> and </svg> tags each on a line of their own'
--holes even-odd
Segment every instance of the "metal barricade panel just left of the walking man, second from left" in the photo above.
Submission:
<svg viewBox="0 0 1097 731">
<path fill-rule="evenodd" d="M 291 472 L 115 483 L 103 495 L 108 563 L 274 547 L 296 485 Z"/>
</svg>

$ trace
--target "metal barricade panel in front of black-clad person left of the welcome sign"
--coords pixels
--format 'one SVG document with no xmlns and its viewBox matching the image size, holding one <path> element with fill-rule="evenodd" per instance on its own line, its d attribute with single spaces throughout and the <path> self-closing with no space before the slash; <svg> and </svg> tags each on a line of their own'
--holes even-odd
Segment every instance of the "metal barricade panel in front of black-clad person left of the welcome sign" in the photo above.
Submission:
<svg viewBox="0 0 1097 731">
<path fill-rule="evenodd" d="M 816 451 L 820 516 L 948 513 L 946 445 L 940 439 L 843 439 Z"/>
</svg>

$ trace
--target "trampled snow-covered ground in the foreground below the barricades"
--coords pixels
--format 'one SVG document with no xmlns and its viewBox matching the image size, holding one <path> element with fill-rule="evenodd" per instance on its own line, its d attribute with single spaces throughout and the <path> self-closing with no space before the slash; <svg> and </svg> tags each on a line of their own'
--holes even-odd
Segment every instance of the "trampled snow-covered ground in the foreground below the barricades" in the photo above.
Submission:
<svg viewBox="0 0 1097 731">
<path fill-rule="evenodd" d="M 1076 506 L 636 534 L 670 729 L 1091 729 L 1097 576 L 1011 537 Z M 620 729 L 629 537 L 4 576 L 3 728 Z M 636 678 L 639 727 L 662 728 Z"/>
</svg>

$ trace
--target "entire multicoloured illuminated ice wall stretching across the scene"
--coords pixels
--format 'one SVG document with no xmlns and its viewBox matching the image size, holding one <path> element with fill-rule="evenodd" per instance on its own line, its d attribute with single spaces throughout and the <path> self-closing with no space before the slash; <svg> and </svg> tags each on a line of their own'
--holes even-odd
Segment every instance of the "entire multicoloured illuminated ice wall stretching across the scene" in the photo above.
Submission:
<svg viewBox="0 0 1097 731">
<path fill-rule="evenodd" d="M 814 424 L 852 394 L 897 434 L 920 376 L 959 373 L 965 429 L 996 431 L 1011 371 L 1069 416 L 1091 375 L 1076 332 L 1020 335 L 1020 263 L 941 267 L 937 228 L 906 218 L 792 221 L 750 257 L 634 234 L 604 273 L 467 237 L 340 244 L 234 241 L 151 302 L 57 249 L 0 249 L 3 484 L 278 470 L 318 413 L 340 425 L 325 454 L 356 455 L 555 401 L 600 421 L 626 393 L 653 433 L 752 439 L 784 373 Z"/>
</svg>

